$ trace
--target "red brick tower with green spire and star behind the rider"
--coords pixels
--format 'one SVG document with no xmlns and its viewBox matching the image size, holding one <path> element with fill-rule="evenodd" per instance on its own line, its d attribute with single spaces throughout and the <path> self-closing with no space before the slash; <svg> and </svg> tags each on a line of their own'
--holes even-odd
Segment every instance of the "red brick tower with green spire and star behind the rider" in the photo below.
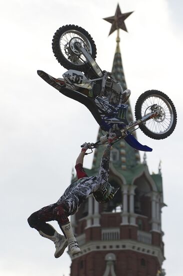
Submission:
<svg viewBox="0 0 183 276">
<path fill-rule="evenodd" d="M 123 90 L 126 83 L 119 28 L 126 31 L 124 19 L 130 14 L 121 14 L 117 6 L 115 16 L 105 19 L 112 23 L 110 33 L 117 29 L 112 73 Z M 118 23 L 117 28 L 113 26 L 114 21 Z M 127 119 L 132 120 L 130 105 Z M 97 138 L 100 136 L 99 131 Z M 100 146 L 95 150 L 92 169 L 85 169 L 88 176 L 97 174 L 103 149 Z M 70 256 L 70 276 L 163 276 L 160 269 L 164 260 L 161 231 L 164 203 L 160 167 L 157 174 L 151 175 L 146 155 L 141 163 L 138 151 L 123 140 L 112 146 L 110 160 L 108 181 L 120 189 L 105 204 L 99 204 L 91 195 L 71 216 L 81 253 Z"/>
</svg>

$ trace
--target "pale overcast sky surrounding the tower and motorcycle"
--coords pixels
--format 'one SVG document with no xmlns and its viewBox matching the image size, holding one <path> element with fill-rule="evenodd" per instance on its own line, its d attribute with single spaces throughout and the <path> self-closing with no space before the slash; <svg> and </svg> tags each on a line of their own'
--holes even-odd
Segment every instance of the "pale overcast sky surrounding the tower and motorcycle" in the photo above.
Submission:
<svg viewBox="0 0 183 276">
<path fill-rule="evenodd" d="M 177 111 L 177 125 L 165 140 L 155 141 L 137 130 L 137 139 L 153 149 L 149 172 L 161 160 L 164 254 L 168 276 L 182 275 L 182 46 L 181 0 L 6 0 L 0 2 L 0 275 L 69 275 L 65 252 L 55 259 L 54 245 L 27 224 L 27 217 L 54 203 L 70 183 L 80 145 L 95 142 L 98 125 L 89 111 L 61 95 L 36 74 L 54 77 L 66 71 L 51 49 L 55 31 L 66 24 L 89 32 L 97 48 L 96 62 L 111 71 L 116 33 L 108 37 L 119 3 L 128 33 L 120 31 L 120 50 L 130 103 L 157 89 Z M 140 153 L 141 160 L 143 154 Z M 92 155 L 84 161 L 91 168 Z M 55 222 L 52 225 L 59 231 Z"/>
</svg>

